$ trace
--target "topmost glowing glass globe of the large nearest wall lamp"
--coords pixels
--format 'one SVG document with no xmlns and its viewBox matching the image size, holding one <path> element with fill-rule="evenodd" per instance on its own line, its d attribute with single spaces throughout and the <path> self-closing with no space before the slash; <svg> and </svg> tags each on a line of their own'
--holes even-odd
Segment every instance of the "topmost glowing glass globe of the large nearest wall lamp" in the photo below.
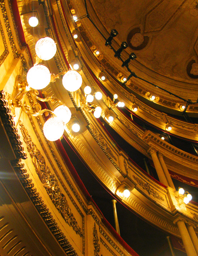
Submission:
<svg viewBox="0 0 198 256">
<path fill-rule="evenodd" d="M 44 37 L 37 41 L 35 51 L 38 58 L 50 60 L 56 53 L 56 44 L 52 38 Z"/>
</svg>

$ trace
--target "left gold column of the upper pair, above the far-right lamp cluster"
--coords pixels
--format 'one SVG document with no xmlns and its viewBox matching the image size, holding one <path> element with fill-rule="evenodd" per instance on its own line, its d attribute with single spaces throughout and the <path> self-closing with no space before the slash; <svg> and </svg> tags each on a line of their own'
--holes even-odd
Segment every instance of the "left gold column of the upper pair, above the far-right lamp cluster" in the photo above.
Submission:
<svg viewBox="0 0 198 256">
<path fill-rule="evenodd" d="M 154 147 L 149 148 L 148 154 L 150 154 L 151 157 L 152 157 L 153 164 L 155 165 L 155 169 L 156 169 L 156 172 L 157 172 L 157 175 L 158 175 L 158 178 L 159 178 L 160 182 L 168 187 L 169 183 L 167 182 L 164 171 L 162 170 L 162 166 L 161 166 L 160 161 L 157 157 L 156 148 L 154 148 Z"/>
</svg>

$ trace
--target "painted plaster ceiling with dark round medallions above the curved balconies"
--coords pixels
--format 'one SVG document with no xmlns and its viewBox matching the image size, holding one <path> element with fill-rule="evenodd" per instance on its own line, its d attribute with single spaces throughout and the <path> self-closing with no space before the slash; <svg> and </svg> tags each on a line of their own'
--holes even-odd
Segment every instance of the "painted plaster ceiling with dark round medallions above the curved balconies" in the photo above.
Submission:
<svg viewBox="0 0 198 256">
<path fill-rule="evenodd" d="M 159 81 L 181 97 L 197 99 L 198 3 L 196 0 L 90 0 L 106 31 L 126 41 L 137 75 Z M 115 61 L 115 59 L 114 59 Z M 159 85 L 159 84 L 158 84 Z M 146 85 L 149 86 L 149 85 Z M 161 93 L 161 92 L 160 92 Z"/>
</svg>

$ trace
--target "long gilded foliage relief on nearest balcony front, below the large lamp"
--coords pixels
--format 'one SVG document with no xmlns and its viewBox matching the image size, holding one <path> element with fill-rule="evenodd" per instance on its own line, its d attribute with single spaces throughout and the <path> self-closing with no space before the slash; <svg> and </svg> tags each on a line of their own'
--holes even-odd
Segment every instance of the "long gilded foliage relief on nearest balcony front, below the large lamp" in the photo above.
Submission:
<svg viewBox="0 0 198 256">
<path fill-rule="evenodd" d="M 41 182 L 44 184 L 48 195 L 50 196 L 56 208 L 59 210 L 60 214 L 63 216 L 66 223 L 69 224 L 73 230 L 80 235 L 80 237 L 82 237 L 82 230 L 79 227 L 73 213 L 71 212 L 65 195 L 60 190 L 55 175 L 50 172 L 49 167 L 46 165 L 45 158 L 41 155 L 41 152 L 38 150 L 37 146 L 32 142 L 27 129 L 24 127 L 20 120 L 19 125 L 24 142 L 27 146 L 27 150 L 32 158 L 32 163 L 36 173 L 38 174 Z"/>
</svg>

